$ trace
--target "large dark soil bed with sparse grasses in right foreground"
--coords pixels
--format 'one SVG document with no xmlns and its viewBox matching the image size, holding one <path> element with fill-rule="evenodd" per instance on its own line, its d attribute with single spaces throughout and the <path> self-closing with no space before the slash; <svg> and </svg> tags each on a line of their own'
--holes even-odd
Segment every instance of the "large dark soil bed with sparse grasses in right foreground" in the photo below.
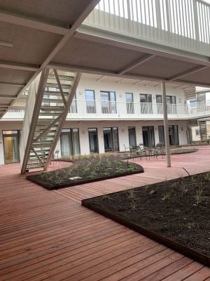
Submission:
<svg viewBox="0 0 210 281">
<path fill-rule="evenodd" d="M 210 266 L 209 183 L 210 172 L 90 198 L 83 205 Z"/>
</svg>

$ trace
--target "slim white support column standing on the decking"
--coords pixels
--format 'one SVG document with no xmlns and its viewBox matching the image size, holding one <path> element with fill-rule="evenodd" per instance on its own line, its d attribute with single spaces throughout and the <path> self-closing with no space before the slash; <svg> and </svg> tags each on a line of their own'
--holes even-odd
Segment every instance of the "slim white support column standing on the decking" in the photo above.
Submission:
<svg viewBox="0 0 210 281">
<path fill-rule="evenodd" d="M 167 157 L 167 167 L 170 167 L 171 156 L 170 156 L 170 148 L 169 148 L 169 125 L 168 125 L 168 117 L 167 117 L 165 81 L 161 81 L 161 89 L 162 89 L 162 107 L 163 107 L 164 132 L 165 132 L 165 152 Z"/>
</svg>

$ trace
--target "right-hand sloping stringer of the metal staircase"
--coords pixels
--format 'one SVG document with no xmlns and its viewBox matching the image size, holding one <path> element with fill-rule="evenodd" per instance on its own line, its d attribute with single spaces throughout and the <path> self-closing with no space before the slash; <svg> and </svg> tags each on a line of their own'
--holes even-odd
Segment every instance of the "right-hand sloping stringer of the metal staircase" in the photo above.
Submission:
<svg viewBox="0 0 210 281">
<path fill-rule="evenodd" d="M 62 116 L 61 116 L 61 118 L 59 119 L 59 126 L 57 127 L 57 131 L 56 131 L 56 134 L 55 134 L 54 142 L 53 142 L 53 144 L 52 144 L 52 146 L 51 146 L 51 148 L 50 148 L 50 152 L 49 152 L 49 155 L 48 155 L 48 159 L 47 159 L 46 162 L 45 162 L 45 167 L 44 167 L 45 170 L 48 169 L 48 166 L 49 166 L 50 161 L 51 161 L 51 159 L 52 159 L 53 152 L 54 152 L 54 150 L 55 150 L 55 148 L 56 148 L 58 138 L 59 138 L 60 133 L 61 133 L 61 131 L 62 131 L 64 122 L 65 122 L 65 120 L 66 120 L 66 116 L 67 116 L 67 114 L 68 114 L 68 112 L 69 112 L 69 108 L 70 108 L 70 106 L 71 106 L 71 102 L 72 102 L 72 100 L 73 100 L 74 93 L 76 92 L 76 88 L 77 88 L 78 83 L 79 83 L 79 81 L 80 81 L 80 77 L 81 77 L 81 74 L 80 74 L 80 73 L 77 73 L 77 74 L 76 74 L 76 77 L 75 77 L 75 79 L 74 79 L 74 81 L 73 81 L 73 85 L 72 85 L 72 87 L 71 87 L 71 90 L 69 91 L 69 96 L 68 96 L 68 98 L 66 99 L 66 105 L 65 105 L 64 110 L 63 110 L 63 112 L 62 112 Z"/>
</svg>

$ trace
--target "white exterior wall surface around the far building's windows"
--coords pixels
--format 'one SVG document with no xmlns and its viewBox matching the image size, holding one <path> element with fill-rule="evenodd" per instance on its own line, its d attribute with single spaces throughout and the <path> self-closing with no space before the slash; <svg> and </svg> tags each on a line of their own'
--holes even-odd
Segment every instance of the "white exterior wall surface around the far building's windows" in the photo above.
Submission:
<svg viewBox="0 0 210 281">
<path fill-rule="evenodd" d="M 160 86 L 151 86 L 151 84 L 135 85 L 131 82 L 118 83 L 116 82 L 116 79 L 112 79 L 111 77 L 109 77 L 109 81 L 106 81 L 106 78 L 104 80 L 102 79 L 101 81 L 97 81 L 97 79 L 90 79 L 88 77 L 83 76 L 76 91 L 76 98 L 85 100 L 85 90 L 93 90 L 95 100 L 100 100 L 100 91 L 113 91 L 116 93 L 116 101 L 122 103 L 126 103 L 125 93 L 133 93 L 134 103 L 140 102 L 140 93 L 151 94 L 152 103 L 156 103 L 156 95 L 162 95 Z M 176 104 L 178 105 L 179 103 L 185 103 L 185 96 L 182 89 L 174 89 L 172 87 L 167 86 L 167 96 L 176 96 Z M 133 118 L 130 117 L 130 119 L 128 119 L 126 115 L 124 117 L 116 115 L 114 118 L 107 117 L 106 115 L 105 117 L 106 119 L 97 119 L 97 116 L 92 117 L 92 119 L 66 119 L 64 129 L 78 128 L 81 155 L 90 154 L 88 128 L 97 128 L 99 153 L 104 153 L 104 127 L 118 127 L 118 141 L 120 151 L 124 151 L 125 146 L 129 147 L 128 127 L 131 126 L 135 127 L 137 144 L 143 143 L 142 126 L 154 126 L 155 144 L 159 142 L 158 126 L 163 126 L 162 119 L 155 119 L 155 116 L 153 118 L 147 118 L 147 116 L 143 114 L 140 118 L 137 118 L 137 116 L 135 116 Z M 186 136 L 187 123 L 188 121 L 181 120 L 178 117 L 174 120 L 169 119 L 169 125 L 179 126 L 179 145 L 186 145 L 188 143 Z M 15 129 L 21 130 L 22 122 L 18 121 L 17 119 L 13 119 L 11 121 L 7 121 L 5 119 L 0 121 L 0 164 L 4 164 L 2 131 Z M 59 149 L 60 156 L 60 140 L 57 142 L 56 149 Z"/>
</svg>

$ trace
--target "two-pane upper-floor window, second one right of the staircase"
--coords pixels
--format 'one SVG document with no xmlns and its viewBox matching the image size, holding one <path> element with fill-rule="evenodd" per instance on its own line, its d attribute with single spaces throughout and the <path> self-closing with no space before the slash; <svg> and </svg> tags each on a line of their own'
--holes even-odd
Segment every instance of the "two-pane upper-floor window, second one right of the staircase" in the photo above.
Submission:
<svg viewBox="0 0 210 281">
<path fill-rule="evenodd" d="M 116 93 L 101 91 L 101 105 L 102 105 L 102 113 L 116 114 L 117 113 Z"/>
</svg>

